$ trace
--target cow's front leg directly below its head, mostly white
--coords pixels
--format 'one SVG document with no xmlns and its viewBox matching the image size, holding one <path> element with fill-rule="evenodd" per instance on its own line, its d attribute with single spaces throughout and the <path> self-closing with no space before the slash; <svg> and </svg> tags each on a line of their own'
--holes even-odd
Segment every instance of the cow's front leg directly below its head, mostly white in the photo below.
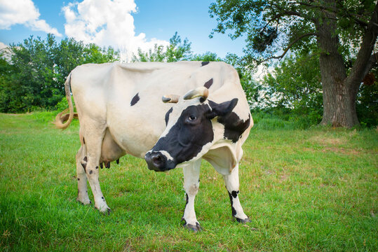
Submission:
<svg viewBox="0 0 378 252">
<path fill-rule="evenodd" d="M 187 198 L 187 204 L 185 205 L 184 216 L 182 216 L 182 221 L 184 221 L 184 227 L 197 232 L 201 230 L 196 218 L 196 211 L 194 211 L 194 198 L 198 193 L 199 188 L 199 171 L 201 167 L 201 159 L 194 162 L 192 165 L 184 167 L 184 190 L 185 197 Z"/>
</svg>

